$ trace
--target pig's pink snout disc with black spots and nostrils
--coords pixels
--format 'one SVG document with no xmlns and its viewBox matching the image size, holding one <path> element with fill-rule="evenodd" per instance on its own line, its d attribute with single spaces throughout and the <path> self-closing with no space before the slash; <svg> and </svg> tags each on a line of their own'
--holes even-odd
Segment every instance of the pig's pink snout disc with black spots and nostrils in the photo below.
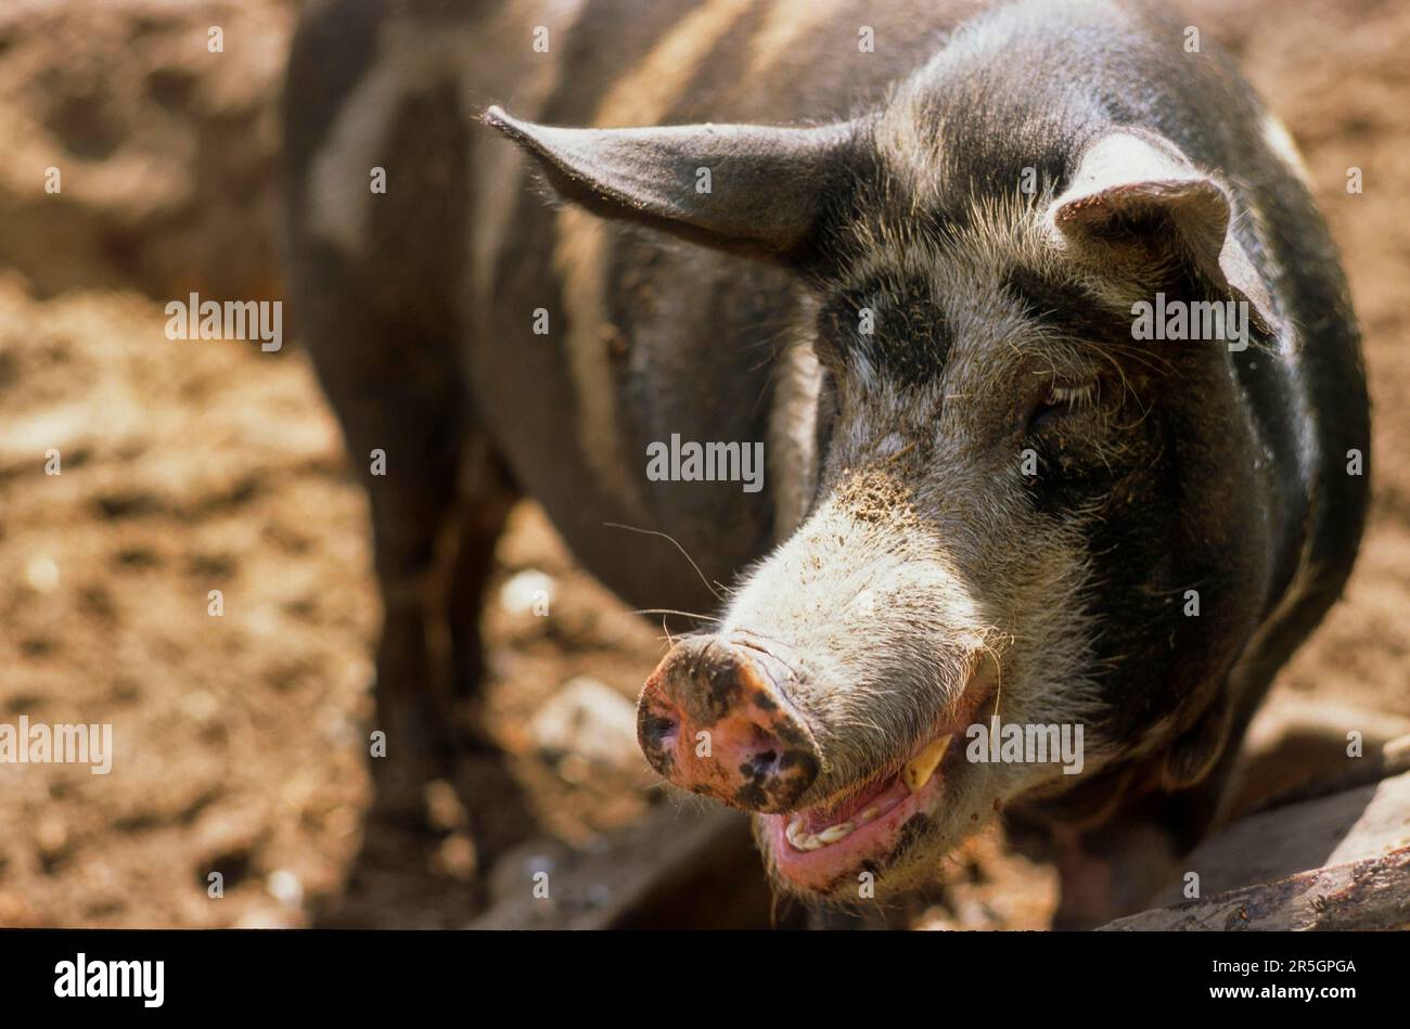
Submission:
<svg viewBox="0 0 1410 1029">
<path fill-rule="evenodd" d="M 736 808 L 785 812 L 818 778 L 812 734 L 777 686 L 774 658 L 715 636 L 677 644 L 642 691 L 636 736 L 678 787 Z"/>
</svg>

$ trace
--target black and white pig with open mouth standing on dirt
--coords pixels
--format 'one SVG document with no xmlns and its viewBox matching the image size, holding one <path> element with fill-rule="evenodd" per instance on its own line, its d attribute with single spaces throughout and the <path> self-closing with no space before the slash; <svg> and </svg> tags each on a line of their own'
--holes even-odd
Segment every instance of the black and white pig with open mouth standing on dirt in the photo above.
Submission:
<svg viewBox="0 0 1410 1029">
<path fill-rule="evenodd" d="M 1136 0 L 312 4 L 292 300 L 386 461 L 379 803 L 482 743 L 453 715 L 527 496 L 673 612 L 642 751 L 752 812 L 780 895 L 904 904 L 1003 818 L 1056 863 L 1056 925 L 1144 904 L 1369 481 L 1307 171 L 1197 30 Z"/>
</svg>

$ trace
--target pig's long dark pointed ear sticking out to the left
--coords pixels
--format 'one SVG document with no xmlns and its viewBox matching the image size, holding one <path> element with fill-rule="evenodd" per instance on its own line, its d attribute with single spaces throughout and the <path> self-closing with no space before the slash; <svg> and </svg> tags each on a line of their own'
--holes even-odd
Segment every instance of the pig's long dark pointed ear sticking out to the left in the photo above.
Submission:
<svg viewBox="0 0 1410 1029">
<path fill-rule="evenodd" d="M 852 140 L 847 124 L 557 128 L 499 107 L 485 121 L 537 158 L 558 193 L 595 214 L 774 258 L 804 248 Z"/>
</svg>

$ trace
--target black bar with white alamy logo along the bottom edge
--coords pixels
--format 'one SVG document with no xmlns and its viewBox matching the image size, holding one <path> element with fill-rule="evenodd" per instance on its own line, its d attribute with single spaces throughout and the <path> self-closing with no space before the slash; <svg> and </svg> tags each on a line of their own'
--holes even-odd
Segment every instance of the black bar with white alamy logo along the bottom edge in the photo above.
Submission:
<svg viewBox="0 0 1410 1029">
<path fill-rule="evenodd" d="M 61 963 L 76 973 L 80 953 L 94 985 L 94 974 L 107 974 L 94 963 L 162 961 L 161 1006 L 141 995 L 56 997 Z M 787 1018 L 850 997 L 897 1016 L 893 1004 L 936 1019 L 956 1008 L 997 1016 L 1121 1004 L 1139 1019 L 1191 1006 L 1338 1012 L 1399 1004 L 1406 970 L 1403 933 L 0 930 L 7 1013 L 82 1005 L 138 1016 L 357 1016 L 451 1005 L 477 1018 L 512 1002 L 520 1013 L 561 1008 L 581 1019 L 615 1008 L 612 1016 L 636 1021 L 677 1006 L 722 1013 L 722 1004 L 744 1016 L 742 1005 L 756 999 L 767 1005 L 756 1015 Z M 1308 988 L 1351 992 L 1286 992 Z M 1252 995 L 1217 997 L 1220 990 Z"/>
</svg>

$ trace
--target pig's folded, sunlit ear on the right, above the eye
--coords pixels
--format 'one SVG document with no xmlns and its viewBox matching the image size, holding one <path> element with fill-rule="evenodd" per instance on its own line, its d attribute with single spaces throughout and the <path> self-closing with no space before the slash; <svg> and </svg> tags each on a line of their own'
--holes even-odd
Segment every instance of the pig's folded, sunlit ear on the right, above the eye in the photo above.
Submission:
<svg viewBox="0 0 1410 1029">
<path fill-rule="evenodd" d="M 1132 234 L 1173 230 L 1206 281 L 1246 300 L 1253 324 L 1273 333 L 1268 288 L 1231 231 L 1232 213 L 1225 187 L 1172 142 L 1120 130 L 1087 148 L 1048 217 L 1069 245 L 1098 255 Z"/>
</svg>

